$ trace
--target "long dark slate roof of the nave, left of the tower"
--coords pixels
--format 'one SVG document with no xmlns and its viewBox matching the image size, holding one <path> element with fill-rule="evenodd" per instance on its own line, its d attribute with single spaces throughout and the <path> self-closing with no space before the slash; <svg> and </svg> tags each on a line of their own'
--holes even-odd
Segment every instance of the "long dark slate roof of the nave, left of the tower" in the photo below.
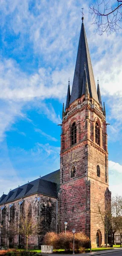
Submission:
<svg viewBox="0 0 122 256">
<path fill-rule="evenodd" d="M 55 172 L 51 172 L 37 180 L 33 180 L 26 183 L 16 189 L 9 191 L 8 195 L 3 194 L 0 197 L 0 205 L 8 202 L 15 201 L 19 198 L 24 198 L 33 194 L 42 194 L 58 197 L 58 191 L 60 187 L 60 169 Z"/>
</svg>

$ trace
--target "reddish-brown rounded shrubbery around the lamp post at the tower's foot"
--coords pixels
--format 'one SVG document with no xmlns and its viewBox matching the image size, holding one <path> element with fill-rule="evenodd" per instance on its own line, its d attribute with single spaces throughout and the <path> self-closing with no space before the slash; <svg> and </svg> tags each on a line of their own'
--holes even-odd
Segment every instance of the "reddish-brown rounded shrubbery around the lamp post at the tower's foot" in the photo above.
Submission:
<svg viewBox="0 0 122 256">
<path fill-rule="evenodd" d="M 53 249 L 65 249 L 67 251 L 73 250 L 73 233 L 70 231 L 65 233 L 48 232 L 44 237 L 46 245 L 52 245 Z M 85 248 L 89 248 L 90 239 L 82 232 L 75 234 L 75 250 L 76 252 L 83 252 Z"/>
</svg>

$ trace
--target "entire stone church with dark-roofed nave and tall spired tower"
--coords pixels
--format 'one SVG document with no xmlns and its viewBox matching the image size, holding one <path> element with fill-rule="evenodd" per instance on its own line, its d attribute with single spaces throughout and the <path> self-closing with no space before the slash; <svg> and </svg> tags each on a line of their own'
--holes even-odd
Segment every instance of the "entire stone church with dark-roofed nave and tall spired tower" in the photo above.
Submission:
<svg viewBox="0 0 122 256">
<path fill-rule="evenodd" d="M 60 169 L 10 190 L 0 197 L 0 245 L 24 247 L 22 236 L 8 237 L 9 222 L 19 218 L 25 205 L 32 218 L 43 216 L 41 236 L 29 238 L 30 248 L 40 248 L 46 232 L 84 232 L 92 247 L 105 244 L 99 202 L 110 200 L 105 103 L 96 84 L 82 17 L 76 67 L 66 107 L 62 111 Z"/>
</svg>

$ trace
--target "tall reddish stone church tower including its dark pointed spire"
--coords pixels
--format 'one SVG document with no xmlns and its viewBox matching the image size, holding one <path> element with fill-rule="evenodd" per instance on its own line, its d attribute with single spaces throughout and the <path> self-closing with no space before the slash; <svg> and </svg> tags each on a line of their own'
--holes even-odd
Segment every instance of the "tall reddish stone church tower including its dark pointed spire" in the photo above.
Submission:
<svg viewBox="0 0 122 256">
<path fill-rule="evenodd" d="M 83 231 L 92 246 L 105 244 L 98 204 L 105 207 L 108 189 L 108 152 L 105 105 L 99 81 L 95 85 L 82 17 L 76 67 L 66 109 L 62 113 L 60 166 L 60 231 Z"/>
</svg>

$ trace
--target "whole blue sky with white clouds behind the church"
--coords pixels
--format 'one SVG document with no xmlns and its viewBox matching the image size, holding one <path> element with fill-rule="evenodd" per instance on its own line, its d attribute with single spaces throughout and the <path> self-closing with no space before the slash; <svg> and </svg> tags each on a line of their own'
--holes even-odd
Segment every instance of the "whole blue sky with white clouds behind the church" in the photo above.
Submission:
<svg viewBox="0 0 122 256">
<path fill-rule="evenodd" d="M 109 183 L 122 195 L 122 30 L 95 35 L 90 1 L 0 1 L 0 194 L 59 169 L 62 104 L 72 86 L 81 8 L 106 103 Z"/>
</svg>

